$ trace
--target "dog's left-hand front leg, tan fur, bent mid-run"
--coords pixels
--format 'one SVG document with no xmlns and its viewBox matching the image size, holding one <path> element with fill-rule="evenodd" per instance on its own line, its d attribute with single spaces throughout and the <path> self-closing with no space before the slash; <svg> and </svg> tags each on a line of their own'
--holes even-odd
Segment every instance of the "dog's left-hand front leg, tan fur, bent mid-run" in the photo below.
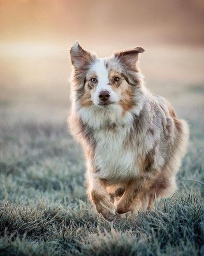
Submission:
<svg viewBox="0 0 204 256">
<path fill-rule="evenodd" d="M 94 177 L 94 173 L 91 174 L 91 179 L 89 180 L 89 198 L 91 202 L 96 207 L 96 210 L 103 215 L 106 220 L 113 220 L 114 207 L 113 200 L 106 191 L 105 181 Z"/>
</svg>

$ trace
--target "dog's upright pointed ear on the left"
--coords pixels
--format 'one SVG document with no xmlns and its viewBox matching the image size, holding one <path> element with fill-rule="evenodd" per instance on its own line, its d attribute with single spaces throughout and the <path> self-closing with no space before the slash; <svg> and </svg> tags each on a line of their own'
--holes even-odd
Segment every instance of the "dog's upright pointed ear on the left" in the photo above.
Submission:
<svg viewBox="0 0 204 256">
<path fill-rule="evenodd" d="M 75 68 L 83 68 L 94 60 L 94 56 L 90 52 L 85 51 L 78 41 L 71 47 L 70 57 L 71 63 Z"/>
</svg>

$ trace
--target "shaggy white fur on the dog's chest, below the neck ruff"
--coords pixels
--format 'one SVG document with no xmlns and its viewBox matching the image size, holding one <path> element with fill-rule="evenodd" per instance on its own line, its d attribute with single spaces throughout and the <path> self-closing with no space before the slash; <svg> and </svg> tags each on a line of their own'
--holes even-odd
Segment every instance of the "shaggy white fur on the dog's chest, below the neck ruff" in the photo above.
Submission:
<svg viewBox="0 0 204 256">
<path fill-rule="evenodd" d="M 129 127 L 117 131 L 98 131 L 94 161 L 99 177 L 108 180 L 122 180 L 138 174 L 137 150 L 128 145 Z"/>
</svg>

